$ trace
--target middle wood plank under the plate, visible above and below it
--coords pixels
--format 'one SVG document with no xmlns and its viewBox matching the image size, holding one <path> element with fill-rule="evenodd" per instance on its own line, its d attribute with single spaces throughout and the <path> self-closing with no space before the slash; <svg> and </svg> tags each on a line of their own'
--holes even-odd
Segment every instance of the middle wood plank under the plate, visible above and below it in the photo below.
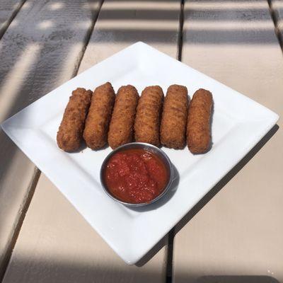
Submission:
<svg viewBox="0 0 283 283">
<path fill-rule="evenodd" d="M 179 1 L 104 1 L 79 72 L 139 40 L 176 57 L 179 10 Z M 142 267 L 126 265 L 42 175 L 4 282 L 164 282 L 165 262 L 162 248 Z"/>
</svg>

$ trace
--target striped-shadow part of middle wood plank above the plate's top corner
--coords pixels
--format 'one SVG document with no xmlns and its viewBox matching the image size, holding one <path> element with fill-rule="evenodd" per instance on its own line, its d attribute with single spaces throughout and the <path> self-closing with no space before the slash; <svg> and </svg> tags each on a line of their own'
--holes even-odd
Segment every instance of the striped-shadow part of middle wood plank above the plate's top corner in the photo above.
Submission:
<svg viewBox="0 0 283 283">
<path fill-rule="evenodd" d="M 104 1 L 83 69 L 137 41 L 178 57 L 180 1 Z"/>
</svg>

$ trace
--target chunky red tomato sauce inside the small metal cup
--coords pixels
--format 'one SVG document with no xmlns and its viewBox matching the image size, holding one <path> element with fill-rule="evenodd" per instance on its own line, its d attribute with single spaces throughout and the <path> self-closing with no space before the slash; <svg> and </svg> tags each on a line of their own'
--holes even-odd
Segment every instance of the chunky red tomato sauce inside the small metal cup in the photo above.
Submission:
<svg viewBox="0 0 283 283">
<path fill-rule="evenodd" d="M 144 149 L 117 152 L 105 167 L 108 190 L 122 202 L 154 200 L 168 183 L 168 171 L 161 158 Z"/>
</svg>

